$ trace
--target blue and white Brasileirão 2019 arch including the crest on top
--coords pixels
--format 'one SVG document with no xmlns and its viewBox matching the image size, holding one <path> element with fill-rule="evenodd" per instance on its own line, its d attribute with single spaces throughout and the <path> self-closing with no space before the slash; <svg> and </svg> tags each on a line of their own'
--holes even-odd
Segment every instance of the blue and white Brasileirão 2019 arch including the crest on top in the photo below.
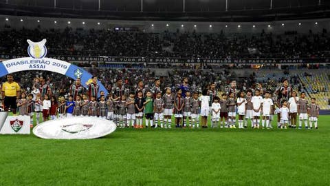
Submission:
<svg viewBox="0 0 330 186">
<path fill-rule="evenodd" d="M 72 63 L 58 59 L 46 58 L 47 48 L 45 47 L 45 42 L 45 39 L 37 43 L 28 40 L 28 54 L 30 57 L 21 57 L 2 61 L 2 63 L 0 63 L 0 77 L 5 76 L 6 74 L 25 70 L 46 70 L 69 76 L 74 80 L 80 78 L 82 85 L 87 87 L 88 83 L 91 81 L 92 75 L 83 68 L 79 68 Z M 104 85 L 102 85 L 102 83 L 100 83 L 100 81 L 98 81 L 98 84 L 100 85 L 99 92 L 104 91 L 105 94 L 108 94 L 107 89 Z"/>
</svg>

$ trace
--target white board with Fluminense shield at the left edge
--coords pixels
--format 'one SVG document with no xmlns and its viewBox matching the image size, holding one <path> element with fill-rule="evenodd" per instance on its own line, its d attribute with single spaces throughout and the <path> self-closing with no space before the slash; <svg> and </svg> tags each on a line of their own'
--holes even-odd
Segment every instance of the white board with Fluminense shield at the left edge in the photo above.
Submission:
<svg viewBox="0 0 330 186">
<path fill-rule="evenodd" d="M 8 116 L 0 112 L 0 134 L 30 134 L 30 116 Z"/>
</svg>

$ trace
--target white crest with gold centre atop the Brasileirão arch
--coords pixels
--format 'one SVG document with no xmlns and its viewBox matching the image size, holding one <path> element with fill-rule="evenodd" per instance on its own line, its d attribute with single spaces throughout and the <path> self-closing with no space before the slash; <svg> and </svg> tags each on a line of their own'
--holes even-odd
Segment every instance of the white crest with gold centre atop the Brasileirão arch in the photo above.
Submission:
<svg viewBox="0 0 330 186">
<path fill-rule="evenodd" d="M 41 59 L 47 55 L 47 48 L 45 43 L 47 39 L 43 39 L 39 42 L 33 42 L 30 39 L 26 40 L 29 43 L 28 54 L 33 59 Z"/>
</svg>

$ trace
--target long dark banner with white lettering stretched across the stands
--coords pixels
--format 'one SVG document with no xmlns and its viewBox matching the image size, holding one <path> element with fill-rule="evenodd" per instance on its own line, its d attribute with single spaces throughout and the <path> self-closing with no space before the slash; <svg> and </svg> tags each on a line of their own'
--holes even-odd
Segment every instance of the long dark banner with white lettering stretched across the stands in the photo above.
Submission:
<svg viewBox="0 0 330 186">
<path fill-rule="evenodd" d="M 0 59 L 15 59 L 17 55 L 0 55 Z M 60 61 L 96 62 L 96 63 L 218 63 L 218 64 L 294 64 L 294 63 L 330 63 L 327 58 L 300 59 L 206 59 L 206 58 L 151 58 L 124 56 L 49 56 Z"/>
</svg>

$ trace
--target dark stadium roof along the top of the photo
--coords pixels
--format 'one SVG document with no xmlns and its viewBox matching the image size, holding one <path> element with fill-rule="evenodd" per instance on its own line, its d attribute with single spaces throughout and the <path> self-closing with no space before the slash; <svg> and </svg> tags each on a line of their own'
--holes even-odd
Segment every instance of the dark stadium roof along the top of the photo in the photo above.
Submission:
<svg viewBox="0 0 330 186">
<path fill-rule="evenodd" d="M 1 14 L 166 21 L 274 21 L 330 17 L 326 0 L 0 0 Z"/>
</svg>

